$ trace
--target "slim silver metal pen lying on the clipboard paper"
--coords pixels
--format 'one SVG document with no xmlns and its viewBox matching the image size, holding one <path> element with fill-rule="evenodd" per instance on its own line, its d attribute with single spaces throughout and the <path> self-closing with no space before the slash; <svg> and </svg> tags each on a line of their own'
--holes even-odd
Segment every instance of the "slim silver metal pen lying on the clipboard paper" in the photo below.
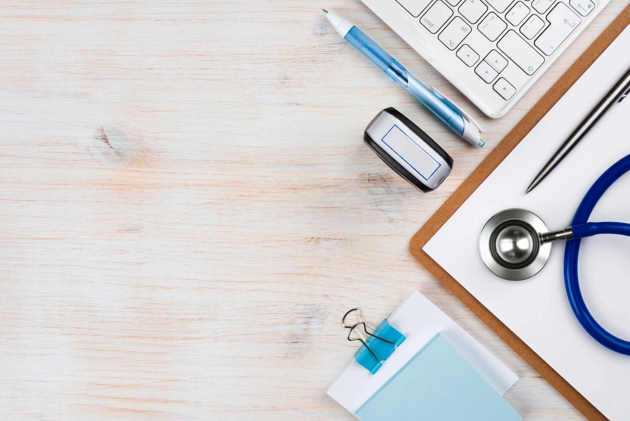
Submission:
<svg viewBox="0 0 630 421">
<path fill-rule="evenodd" d="M 626 96 L 630 93 L 630 69 L 626 71 L 626 73 L 621 76 L 621 79 L 615 83 L 612 88 L 610 88 L 609 92 L 600 100 L 599 104 L 595 105 L 595 107 L 590 110 L 586 117 L 575 127 L 573 133 L 570 134 L 568 138 L 564 141 L 564 143 L 558 148 L 556 153 L 553 154 L 553 157 L 547 161 L 544 167 L 542 167 L 541 172 L 536 175 L 534 181 L 531 182 L 527 190 L 525 190 L 525 194 L 529 193 L 534 189 L 534 187 L 538 186 L 540 182 L 549 175 L 554 168 L 558 166 L 561 160 L 569 154 L 575 145 L 588 133 L 595 123 L 599 121 L 599 119 L 604 116 L 605 112 L 607 112 L 612 104 L 616 102 L 621 102 Z"/>
</svg>

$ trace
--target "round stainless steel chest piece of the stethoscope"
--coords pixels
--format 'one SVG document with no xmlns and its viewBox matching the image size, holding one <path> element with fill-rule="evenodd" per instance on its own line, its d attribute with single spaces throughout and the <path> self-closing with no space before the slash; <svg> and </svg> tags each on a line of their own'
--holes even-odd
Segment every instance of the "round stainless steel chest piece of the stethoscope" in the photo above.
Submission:
<svg viewBox="0 0 630 421">
<path fill-rule="evenodd" d="M 481 259 L 505 280 L 530 278 L 541 271 L 551 252 L 550 242 L 540 233 L 547 234 L 547 226 L 536 214 L 524 209 L 500 211 L 481 230 Z"/>
</svg>

